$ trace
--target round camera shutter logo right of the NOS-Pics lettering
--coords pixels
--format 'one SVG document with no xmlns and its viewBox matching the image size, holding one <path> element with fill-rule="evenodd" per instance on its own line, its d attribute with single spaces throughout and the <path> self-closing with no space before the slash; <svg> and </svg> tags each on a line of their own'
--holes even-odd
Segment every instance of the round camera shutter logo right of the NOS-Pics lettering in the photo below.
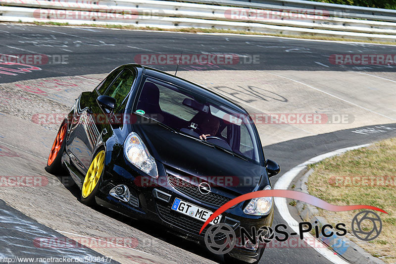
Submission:
<svg viewBox="0 0 396 264">
<path fill-rule="evenodd" d="M 367 224 L 371 221 L 371 230 L 366 231 L 365 226 L 362 224 Z M 378 214 L 373 211 L 361 211 L 357 213 L 352 219 L 352 232 L 360 240 L 371 241 L 376 239 L 382 230 L 382 221 Z"/>
</svg>

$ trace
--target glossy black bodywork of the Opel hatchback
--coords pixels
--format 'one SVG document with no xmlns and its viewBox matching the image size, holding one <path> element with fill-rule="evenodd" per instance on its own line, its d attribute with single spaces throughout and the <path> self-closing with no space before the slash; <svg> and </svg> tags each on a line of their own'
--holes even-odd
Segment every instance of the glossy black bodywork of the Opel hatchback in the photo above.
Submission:
<svg viewBox="0 0 396 264">
<path fill-rule="evenodd" d="M 112 82 L 109 78 L 115 79 L 114 76 L 119 76 L 124 69 L 130 70 L 135 79 L 131 90 L 122 102 L 117 102 L 118 108 L 114 110 L 114 113 L 109 114 L 97 102 L 98 96 L 101 95 L 99 91 L 103 83 Z M 84 92 L 76 100 L 67 118 L 67 140 L 62 161 L 66 164 L 73 180 L 81 188 L 94 155 L 98 150 L 104 150 L 104 172 L 97 193 L 99 205 L 133 218 L 155 221 L 166 226 L 171 232 L 202 243 L 204 232 L 198 233 L 203 222 L 172 211 L 171 206 L 175 198 L 196 204 L 209 211 L 215 211 L 222 204 L 237 196 L 263 190 L 265 186 L 271 185 L 265 168 L 264 154 L 260 148 L 259 162 L 245 160 L 170 131 L 155 122 L 145 124 L 144 117 L 134 113 L 133 109 L 147 77 L 191 89 L 202 97 L 215 100 L 236 112 L 247 114 L 241 106 L 189 81 L 137 64 L 123 65 L 113 70 L 94 91 Z M 95 119 L 96 116 L 93 113 L 102 114 L 100 121 Z M 120 115 L 116 116 L 116 114 Z M 155 179 L 125 157 L 124 141 L 131 132 L 137 133 L 147 146 L 149 153 L 155 158 L 158 175 L 166 179 L 166 184 L 158 184 Z M 254 134 L 257 145 L 261 146 L 255 127 Z M 212 180 L 208 176 L 230 176 L 234 184 L 213 187 L 210 199 L 206 199 L 196 191 L 191 191 L 192 187 L 181 189 L 177 185 L 172 185 L 171 181 L 180 176 L 202 178 L 209 183 Z M 247 176 L 252 182 L 250 185 L 244 182 Z M 142 180 L 145 183 L 151 182 L 152 185 L 142 185 Z M 109 190 L 119 184 L 125 184 L 129 188 L 130 202 L 125 203 L 109 195 Z M 273 208 L 267 215 L 248 215 L 243 212 L 247 203 L 248 201 L 245 201 L 227 210 L 223 213 L 224 217 L 221 221 L 230 224 L 235 229 L 241 226 L 247 230 L 250 230 L 251 226 L 257 228 L 263 225 L 271 226 L 274 217 Z M 256 251 L 247 249 L 236 249 L 232 252 L 234 255 L 251 259 L 257 259 L 259 255 Z"/>
</svg>

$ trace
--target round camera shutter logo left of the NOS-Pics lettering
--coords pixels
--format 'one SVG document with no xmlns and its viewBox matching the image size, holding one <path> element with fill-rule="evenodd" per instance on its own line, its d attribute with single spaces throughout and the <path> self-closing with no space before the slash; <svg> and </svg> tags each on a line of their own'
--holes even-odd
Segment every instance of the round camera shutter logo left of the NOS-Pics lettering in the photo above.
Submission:
<svg viewBox="0 0 396 264">
<path fill-rule="evenodd" d="M 215 241 L 215 236 L 219 233 L 226 235 L 225 239 L 218 241 L 222 244 L 217 244 Z M 214 254 L 226 254 L 234 248 L 236 243 L 235 231 L 228 224 L 214 224 L 205 233 L 205 245 Z"/>
</svg>

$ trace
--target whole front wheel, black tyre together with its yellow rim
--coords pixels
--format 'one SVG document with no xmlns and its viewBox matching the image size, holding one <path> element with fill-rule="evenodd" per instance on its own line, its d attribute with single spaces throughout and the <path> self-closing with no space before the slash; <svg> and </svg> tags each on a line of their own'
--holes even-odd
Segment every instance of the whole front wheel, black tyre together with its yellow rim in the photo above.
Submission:
<svg viewBox="0 0 396 264">
<path fill-rule="evenodd" d="M 104 150 L 99 150 L 91 161 L 88 171 L 85 175 L 83 186 L 80 192 L 81 203 L 93 207 L 96 205 L 95 196 L 99 190 L 104 171 Z M 95 184 L 95 186 L 92 186 Z M 93 189 L 92 189 L 93 188 Z"/>
</svg>

